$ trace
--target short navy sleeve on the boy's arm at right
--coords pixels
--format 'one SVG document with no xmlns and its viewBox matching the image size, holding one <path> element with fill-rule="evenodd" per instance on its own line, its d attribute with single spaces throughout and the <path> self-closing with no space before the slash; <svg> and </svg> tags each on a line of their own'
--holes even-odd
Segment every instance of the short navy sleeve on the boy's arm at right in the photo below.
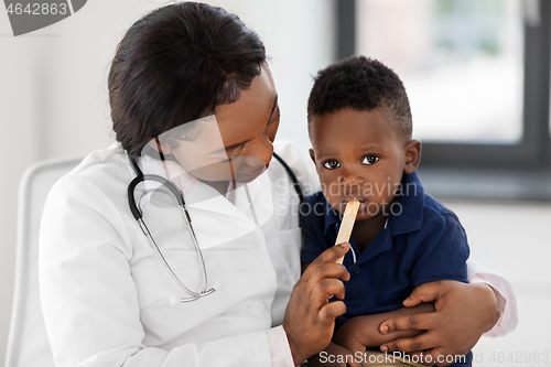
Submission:
<svg viewBox="0 0 551 367">
<path fill-rule="evenodd" d="M 422 241 L 412 267 L 412 288 L 437 280 L 467 282 L 469 249 L 465 230 L 452 214 L 434 218 L 428 228 L 432 240 Z"/>
</svg>

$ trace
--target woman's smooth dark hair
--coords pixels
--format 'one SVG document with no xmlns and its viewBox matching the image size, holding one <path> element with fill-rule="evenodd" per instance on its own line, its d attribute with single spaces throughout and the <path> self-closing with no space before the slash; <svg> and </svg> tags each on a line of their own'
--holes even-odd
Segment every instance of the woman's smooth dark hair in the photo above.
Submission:
<svg viewBox="0 0 551 367">
<path fill-rule="evenodd" d="M 138 158 L 149 140 L 239 98 L 266 62 L 258 35 L 235 14 L 182 2 L 137 21 L 108 77 L 117 140 Z"/>
</svg>

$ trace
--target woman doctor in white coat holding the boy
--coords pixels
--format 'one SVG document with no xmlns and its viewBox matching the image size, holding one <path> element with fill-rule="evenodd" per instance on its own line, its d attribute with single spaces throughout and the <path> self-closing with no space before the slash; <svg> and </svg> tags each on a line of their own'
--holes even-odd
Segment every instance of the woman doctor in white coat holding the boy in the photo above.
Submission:
<svg viewBox="0 0 551 367">
<path fill-rule="evenodd" d="M 56 366 L 292 366 L 322 350 L 345 311 L 326 299 L 344 294 L 349 276 L 334 261 L 348 246 L 299 279 L 299 198 L 271 159 L 278 95 L 258 36 L 219 8 L 171 4 L 130 28 L 108 85 L 118 143 L 60 180 L 43 215 Z M 314 184 L 294 145 L 276 151 Z M 449 292 L 452 314 L 483 310 L 454 323 L 473 325 L 473 344 L 499 314 L 499 294 L 483 288 Z"/>
</svg>

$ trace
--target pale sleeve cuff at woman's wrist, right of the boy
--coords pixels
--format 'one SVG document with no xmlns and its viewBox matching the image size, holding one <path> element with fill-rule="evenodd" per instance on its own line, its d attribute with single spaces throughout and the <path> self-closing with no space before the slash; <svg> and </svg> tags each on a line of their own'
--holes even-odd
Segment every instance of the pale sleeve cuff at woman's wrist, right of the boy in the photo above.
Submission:
<svg viewBox="0 0 551 367">
<path fill-rule="evenodd" d="M 517 299 L 511 284 L 501 276 L 469 259 L 468 281 L 471 283 L 486 283 L 491 287 L 497 299 L 497 314 L 494 323 L 486 331 L 486 336 L 504 336 L 515 330 L 518 323 Z"/>
</svg>

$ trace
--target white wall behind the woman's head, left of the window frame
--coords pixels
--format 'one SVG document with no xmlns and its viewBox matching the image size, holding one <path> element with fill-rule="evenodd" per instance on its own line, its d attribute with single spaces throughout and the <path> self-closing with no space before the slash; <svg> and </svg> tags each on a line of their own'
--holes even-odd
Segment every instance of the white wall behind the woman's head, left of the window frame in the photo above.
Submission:
<svg viewBox="0 0 551 367">
<path fill-rule="evenodd" d="M 333 61 L 333 1 L 207 2 L 237 13 L 264 41 L 280 95 L 279 136 L 306 149 L 311 75 Z M 109 144 L 108 64 L 125 30 L 165 3 L 88 1 L 73 17 L 18 37 L 0 9 L 0 364 L 11 313 L 21 174 L 33 162 Z"/>
</svg>

